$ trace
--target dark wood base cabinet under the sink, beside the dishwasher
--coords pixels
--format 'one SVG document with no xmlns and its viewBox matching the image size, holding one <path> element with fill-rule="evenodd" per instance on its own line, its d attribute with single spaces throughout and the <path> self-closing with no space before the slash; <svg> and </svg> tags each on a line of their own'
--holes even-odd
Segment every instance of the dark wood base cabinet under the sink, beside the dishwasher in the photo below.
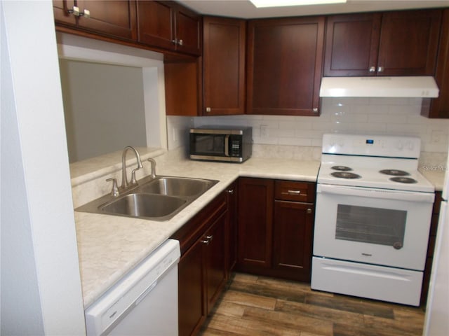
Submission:
<svg viewBox="0 0 449 336">
<path fill-rule="evenodd" d="M 179 335 L 195 335 L 227 281 L 227 194 L 221 193 L 173 239 L 181 246 L 178 265 Z"/>
</svg>

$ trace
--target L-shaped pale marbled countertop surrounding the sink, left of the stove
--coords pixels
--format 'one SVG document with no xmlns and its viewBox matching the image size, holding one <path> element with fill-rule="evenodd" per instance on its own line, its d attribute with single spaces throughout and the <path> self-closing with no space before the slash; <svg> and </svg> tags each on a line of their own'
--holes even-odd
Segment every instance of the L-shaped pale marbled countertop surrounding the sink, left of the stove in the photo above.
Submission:
<svg viewBox="0 0 449 336">
<path fill-rule="evenodd" d="M 250 158 L 243 164 L 177 160 L 163 165 L 161 169 L 156 167 L 157 174 L 220 182 L 170 221 L 75 211 L 84 307 L 97 300 L 239 176 L 315 182 L 319 165 L 320 162 L 314 160 L 266 158 Z"/>
</svg>

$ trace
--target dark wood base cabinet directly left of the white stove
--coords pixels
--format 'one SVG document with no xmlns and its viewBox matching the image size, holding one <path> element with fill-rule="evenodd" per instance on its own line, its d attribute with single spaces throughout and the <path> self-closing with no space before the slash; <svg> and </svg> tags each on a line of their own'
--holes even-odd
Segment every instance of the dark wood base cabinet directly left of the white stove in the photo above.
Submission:
<svg viewBox="0 0 449 336">
<path fill-rule="evenodd" d="M 310 281 L 315 183 L 239 179 L 237 269 Z"/>
</svg>

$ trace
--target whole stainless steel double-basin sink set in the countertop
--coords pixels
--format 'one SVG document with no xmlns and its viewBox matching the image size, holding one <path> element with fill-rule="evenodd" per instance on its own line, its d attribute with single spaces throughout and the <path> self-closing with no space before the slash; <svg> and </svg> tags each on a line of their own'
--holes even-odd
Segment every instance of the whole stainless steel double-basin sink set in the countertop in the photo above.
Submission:
<svg viewBox="0 0 449 336">
<path fill-rule="evenodd" d="M 105 195 L 75 211 L 168 221 L 217 182 L 174 176 L 145 178 L 126 193 Z"/>
</svg>

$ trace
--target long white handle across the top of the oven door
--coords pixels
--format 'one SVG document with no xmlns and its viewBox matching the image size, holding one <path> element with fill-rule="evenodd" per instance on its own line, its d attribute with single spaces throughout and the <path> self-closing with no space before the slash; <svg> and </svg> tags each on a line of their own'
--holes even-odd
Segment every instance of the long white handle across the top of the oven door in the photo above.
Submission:
<svg viewBox="0 0 449 336">
<path fill-rule="evenodd" d="M 384 198 L 387 200 L 401 200 L 411 202 L 433 203 L 434 193 L 416 193 L 414 191 L 400 191 L 387 189 L 373 189 L 364 187 L 333 186 L 329 184 L 318 184 L 316 193 L 335 195 L 347 195 L 356 197 Z"/>
</svg>

